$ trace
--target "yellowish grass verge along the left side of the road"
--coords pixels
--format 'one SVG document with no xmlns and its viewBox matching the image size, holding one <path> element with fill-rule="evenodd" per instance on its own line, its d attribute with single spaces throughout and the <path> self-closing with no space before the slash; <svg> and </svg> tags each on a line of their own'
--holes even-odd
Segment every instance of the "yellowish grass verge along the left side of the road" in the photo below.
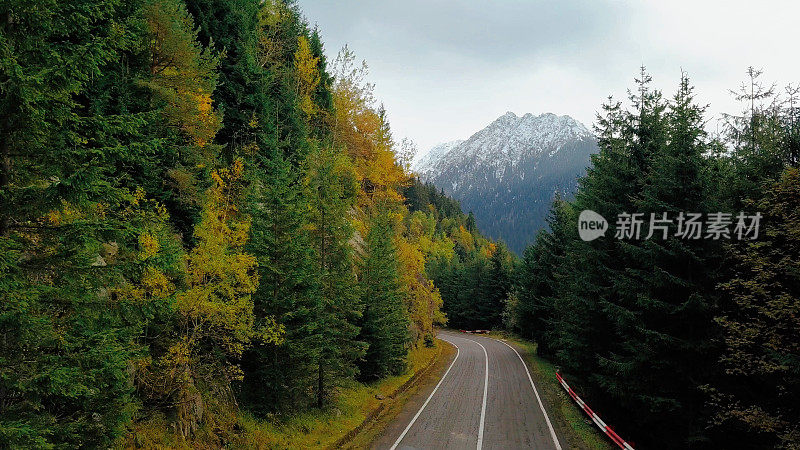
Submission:
<svg viewBox="0 0 800 450">
<path fill-rule="evenodd" d="M 287 418 L 261 419 L 245 410 L 222 408 L 216 417 L 225 417 L 233 433 L 220 436 L 215 425 L 201 426 L 191 440 L 181 438 L 164 417 L 153 417 L 139 423 L 119 448 L 236 448 L 236 449 L 324 449 L 334 446 L 365 448 L 402 409 L 403 403 L 418 388 L 417 380 L 429 376 L 415 374 L 421 370 L 441 365 L 441 359 L 450 358 L 455 350 L 444 341 L 436 347 L 420 346 L 412 349 L 408 357 L 408 370 L 398 376 L 375 383 L 351 381 L 342 388 L 336 399 L 322 410 L 312 409 Z M 412 380 L 414 378 L 414 380 Z M 402 392 L 400 392 L 402 391 Z M 381 407 L 383 404 L 383 407 Z M 369 417 L 370 420 L 366 420 Z M 356 432 L 357 431 L 357 432 Z M 351 436 L 354 435 L 354 436 Z M 347 436 L 346 440 L 343 438 Z"/>
</svg>

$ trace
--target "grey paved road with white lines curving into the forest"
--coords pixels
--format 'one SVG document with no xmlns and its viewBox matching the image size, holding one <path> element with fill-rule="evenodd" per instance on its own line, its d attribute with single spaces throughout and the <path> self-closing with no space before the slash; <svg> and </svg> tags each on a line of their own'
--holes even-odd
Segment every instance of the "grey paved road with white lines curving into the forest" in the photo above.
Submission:
<svg viewBox="0 0 800 450">
<path fill-rule="evenodd" d="M 525 364 L 499 340 L 442 332 L 457 347 L 433 388 L 418 394 L 374 443 L 378 449 L 557 449 Z"/>
</svg>

